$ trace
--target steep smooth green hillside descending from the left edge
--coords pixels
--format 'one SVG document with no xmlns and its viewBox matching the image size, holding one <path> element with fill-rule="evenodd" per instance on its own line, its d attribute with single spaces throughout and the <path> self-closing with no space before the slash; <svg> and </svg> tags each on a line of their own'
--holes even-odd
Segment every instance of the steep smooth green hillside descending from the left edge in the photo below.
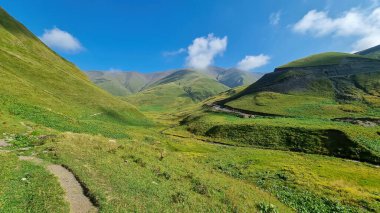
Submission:
<svg viewBox="0 0 380 213">
<path fill-rule="evenodd" d="M 124 135 L 116 133 L 120 123 L 149 123 L 135 107 L 99 89 L 1 8 L 0 75 L 3 119 L 107 135 Z"/>
</svg>

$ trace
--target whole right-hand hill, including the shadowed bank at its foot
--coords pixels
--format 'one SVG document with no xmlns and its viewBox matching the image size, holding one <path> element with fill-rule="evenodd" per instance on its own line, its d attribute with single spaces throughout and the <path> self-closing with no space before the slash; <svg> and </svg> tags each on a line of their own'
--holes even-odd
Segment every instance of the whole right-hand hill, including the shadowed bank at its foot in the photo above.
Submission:
<svg viewBox="0 0 380 213">
<path fill-rule="evenodd" d="M 236 92 L 181 123 L 224 144 L 380 162 L 380 60 L 312 55 Z"/>
</svg>

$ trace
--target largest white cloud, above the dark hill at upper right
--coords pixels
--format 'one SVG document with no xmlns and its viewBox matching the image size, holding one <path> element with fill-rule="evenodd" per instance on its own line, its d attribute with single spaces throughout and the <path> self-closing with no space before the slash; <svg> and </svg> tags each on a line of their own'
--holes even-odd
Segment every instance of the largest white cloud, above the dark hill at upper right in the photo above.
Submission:
<svg viewBox="0 0 380 213">
<path fill-rule="evenodd" d="M 326 11 L 311 10 L 293 26 L 293 31 L 317 37 L 353 37 L 353 50 L 367 49 L 380 44 L 380 7 L 353 8 L 336 18 Z"/>
</svg>

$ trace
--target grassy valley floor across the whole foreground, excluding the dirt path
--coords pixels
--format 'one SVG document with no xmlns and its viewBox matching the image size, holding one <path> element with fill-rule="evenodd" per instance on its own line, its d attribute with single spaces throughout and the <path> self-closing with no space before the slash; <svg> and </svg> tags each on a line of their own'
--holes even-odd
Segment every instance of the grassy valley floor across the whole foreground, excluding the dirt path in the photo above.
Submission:
<svg viewBox="0 0 380 213">
<path fill-rule="evenodd" d="M 17 132 L 5 134 L 12 146 L 1 148 L 0 212 L 70 209 L 60 180 L 17 156 L 68 168 L 100 212 L 380 210 L 376 165 L 239 145 L 192 134 L 177 125 L 176 114 L 151 117 L 161 124 L 126 127 L 128 137 L 119 139 L 60 133 L 17 119 L 3 124 L 4 132 L 9 126 Z"/>
</svg>

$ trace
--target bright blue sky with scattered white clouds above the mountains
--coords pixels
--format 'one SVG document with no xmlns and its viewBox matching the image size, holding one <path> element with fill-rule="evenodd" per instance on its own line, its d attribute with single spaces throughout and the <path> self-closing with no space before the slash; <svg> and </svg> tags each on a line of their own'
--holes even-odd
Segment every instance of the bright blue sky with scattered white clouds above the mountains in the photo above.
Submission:
<svg viewBox="0 0 380 213">
<path fill-rule="evenodd" d="M 271 72 L 311 54 L 380 44 L 379 0 L 4 0 L 80 69 Z"/>
</svg>

